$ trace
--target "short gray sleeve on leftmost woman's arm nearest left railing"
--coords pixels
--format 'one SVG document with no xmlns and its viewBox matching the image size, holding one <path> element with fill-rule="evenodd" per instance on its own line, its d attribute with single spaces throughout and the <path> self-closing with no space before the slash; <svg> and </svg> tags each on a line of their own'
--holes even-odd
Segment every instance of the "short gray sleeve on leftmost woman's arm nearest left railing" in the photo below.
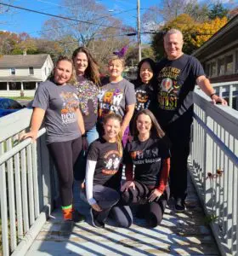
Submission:
<svg viewBox="0 0 238 256">
<path fill-rule="evenodd" d="M 33 108 L 42 108 L 43 110 L 48 108 L 49 95 L 47 85 L 45 83 L 39 84 L 32 102 Z"/>
</svg>

